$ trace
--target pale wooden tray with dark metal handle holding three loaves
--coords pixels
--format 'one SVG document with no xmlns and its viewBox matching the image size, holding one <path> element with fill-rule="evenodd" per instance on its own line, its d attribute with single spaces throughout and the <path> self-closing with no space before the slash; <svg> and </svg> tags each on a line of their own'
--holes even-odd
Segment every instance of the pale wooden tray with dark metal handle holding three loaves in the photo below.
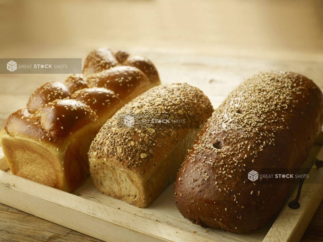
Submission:
<svg viewBox="0 0 323 242">
<path fill-rule="evenodd" d="M 305 163 L 323 159 L 320 144 Z M 72 194 L 10 174 L 0 149 L 0 203 L 104 241 L 299 241 L 323 198 L 323 168 L 314 166 L 303 185 L 301 207 L 282 209 L 275 221 L 250 234 L 205 229 L 182 217 L 173 184 L 147 208 L 137 208 L 98 192 L 91 178 Z M 289 200 L 293 200 L 296 191 Z"/>
</svg>

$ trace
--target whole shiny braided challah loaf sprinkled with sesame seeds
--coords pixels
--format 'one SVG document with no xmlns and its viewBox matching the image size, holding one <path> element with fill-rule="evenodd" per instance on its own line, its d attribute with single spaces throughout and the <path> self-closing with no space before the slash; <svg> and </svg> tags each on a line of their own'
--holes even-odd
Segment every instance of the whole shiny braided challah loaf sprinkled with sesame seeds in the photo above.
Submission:
<svg viewBox="0 0 323 242">
<path fill-rule="evenodd" d="M 140 55 L 92 51 L 83 74 L 48 82 L 27 108 L 11 114 L 1 146 L 13 174 L 73 191 L 89 173 L 88 151 L 108 118 L 131 99 L 160 84 L 154 65 Z"/>
</svg>

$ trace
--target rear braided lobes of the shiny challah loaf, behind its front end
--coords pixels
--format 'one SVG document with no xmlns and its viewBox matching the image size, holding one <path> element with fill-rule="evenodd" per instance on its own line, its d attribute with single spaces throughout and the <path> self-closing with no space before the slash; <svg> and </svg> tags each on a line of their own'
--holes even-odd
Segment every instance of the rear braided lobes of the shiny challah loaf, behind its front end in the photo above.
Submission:
<svg viewBox="0 0 323 242">
<path fill-rule="evenodd" d="M 155 66 L 146 57 L 125 51 L 114 55 L 108 48 L 90 52 L 83 73 L 68 76 L 64 83 L 48 82 L 38 87 L 29 98 L 28 110 L 35 113 L 56 99 L 76 98 L 89 105 L 103 125 L 131 99 L 160 84 Z"/>
</svg>

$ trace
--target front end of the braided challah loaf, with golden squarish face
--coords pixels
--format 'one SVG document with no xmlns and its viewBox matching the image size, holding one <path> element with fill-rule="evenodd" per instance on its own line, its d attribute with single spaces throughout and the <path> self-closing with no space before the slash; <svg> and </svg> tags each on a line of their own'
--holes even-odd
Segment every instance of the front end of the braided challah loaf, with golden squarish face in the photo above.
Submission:
<svg viewBox="0 0 323 242">
<path fill-rule="evenodd" d="M 56 99 L 36 113 L 24 108 L 11 114 L 1 147 L 14 175 L 71 192 L 89 173 L 87 150 L 99 129 L 89 106 Z"/>
</svg>

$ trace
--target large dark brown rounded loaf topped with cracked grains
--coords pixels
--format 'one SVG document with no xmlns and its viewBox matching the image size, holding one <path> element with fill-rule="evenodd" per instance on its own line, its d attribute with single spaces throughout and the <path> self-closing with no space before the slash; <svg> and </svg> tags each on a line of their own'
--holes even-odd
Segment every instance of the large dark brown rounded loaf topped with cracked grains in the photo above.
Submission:
<svg viewBox="0 0 323 242">
<path fill-rule="evenodd" d="M 307 77 L 259 73 L 236 87 L 208 120 L 175 180 L 175 203 L 202 227 L 234 233 L 265 226 L 291 183 L 248 172 L 292 174 L 305 161 L 323 124 L 323 96 Z"/>
</svg>

